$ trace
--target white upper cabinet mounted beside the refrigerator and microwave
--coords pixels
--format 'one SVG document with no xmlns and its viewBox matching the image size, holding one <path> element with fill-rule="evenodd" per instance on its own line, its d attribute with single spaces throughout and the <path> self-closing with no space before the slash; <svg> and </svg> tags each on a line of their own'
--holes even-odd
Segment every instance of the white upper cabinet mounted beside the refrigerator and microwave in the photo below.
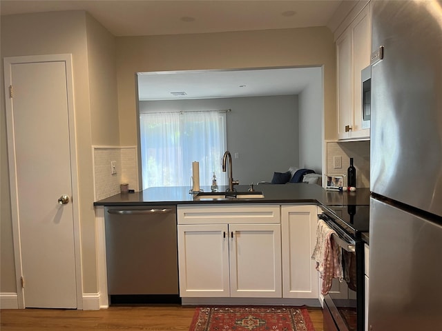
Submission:
<svg viewBox="0 0 442 331">
<path fill-rule="evenodd" d="M 370 64 L 372 44 L 370 3 L 336 39 L 338 139 L 368 139 L 362 125 L 361 70 Z"/>
</svg>

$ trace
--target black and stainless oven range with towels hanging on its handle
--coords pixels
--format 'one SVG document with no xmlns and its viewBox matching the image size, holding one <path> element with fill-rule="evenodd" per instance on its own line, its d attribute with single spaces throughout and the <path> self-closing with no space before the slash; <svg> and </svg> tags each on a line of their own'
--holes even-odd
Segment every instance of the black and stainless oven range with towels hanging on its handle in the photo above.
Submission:
<svg viewBox="0 0 442 331">
<path fill-rule="evenodd" d="M 318 215 L 336 234 L 343 265 L 343 280 L 333 279 L 324 296 L 325 331 L 363 331 L 365 312 L 364 243 L 361 232 L 368 232 L 369 206 L 328 207 Z"/>
</svg>

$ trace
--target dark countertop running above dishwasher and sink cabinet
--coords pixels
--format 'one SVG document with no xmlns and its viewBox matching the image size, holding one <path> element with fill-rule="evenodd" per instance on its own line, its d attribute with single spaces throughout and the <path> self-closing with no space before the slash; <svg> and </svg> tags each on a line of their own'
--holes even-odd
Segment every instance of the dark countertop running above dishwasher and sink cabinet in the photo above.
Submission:
<svg viewBox="0 0 442 331">
<path fill-rule="evenodd" d="M 220 187 L 224 191 L 226 187 Z M 246 192 L 249 185 L 238 185 L 238 192 Z M 210 187 L 202 187 L 210 192 Z M 260 199 L 204 199 L 198 200 L 189 194 L 189 187 L 147 188 L 135 193 L 119 193 L 112 197 L 96 201 L 94 205 L 177 205 L 206 203 L 316 203 L 320 205 L 369 204 L 369 189 L 358 188 L 356 192 L 338 192 L 324 190 L 319 185 L 293 183 L 285 185 L 256 185 L 256 191 L 262 192 Z"/>
</svg>

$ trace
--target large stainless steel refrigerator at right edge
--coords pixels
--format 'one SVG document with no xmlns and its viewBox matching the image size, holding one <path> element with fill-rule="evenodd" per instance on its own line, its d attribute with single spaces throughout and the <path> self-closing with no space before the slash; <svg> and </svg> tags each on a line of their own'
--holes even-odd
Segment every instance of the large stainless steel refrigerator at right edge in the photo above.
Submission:
<svg viewBox="0 0 442 331">
<path fill-rule="evenodd" d="M 442 1 L 372 10 L 369 330 L 442 330 Z"/>
</svg>

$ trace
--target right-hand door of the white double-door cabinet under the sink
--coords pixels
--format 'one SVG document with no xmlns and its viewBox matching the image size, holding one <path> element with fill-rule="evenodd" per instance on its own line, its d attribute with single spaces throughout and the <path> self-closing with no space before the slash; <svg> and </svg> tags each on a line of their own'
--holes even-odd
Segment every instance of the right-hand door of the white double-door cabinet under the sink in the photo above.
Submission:
<svg viewBox="0 0 442 331">
<path fill-rule="evenodd" d="M 279 224 L 229 224 L 231 297 L 282 297 Z"/>
</svg>

